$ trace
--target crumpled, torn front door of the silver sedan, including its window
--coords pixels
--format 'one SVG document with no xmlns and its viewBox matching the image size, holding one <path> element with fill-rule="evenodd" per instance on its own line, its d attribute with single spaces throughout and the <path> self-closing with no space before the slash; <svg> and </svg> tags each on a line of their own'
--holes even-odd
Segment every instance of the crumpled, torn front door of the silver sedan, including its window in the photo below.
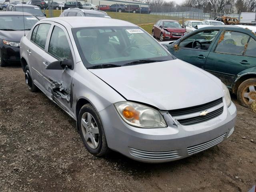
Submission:
<svg viewBox="0 0 256 192">
<path fill-rule="evenodd" d="M 70 47 L 71 42 L 66 29 L 58 24 L 51 28 L 51 37 L 47 42 L 47 52 L 43 56 L 42 74 L 44 76 L 44 87 L 48 92 L 46 95 L 69 114 L 72 110 L 72 76 L 73 70 L 68 67 L 53 70 L 46 67 L 56 60 L 71 60 L 74 63 Z"/>
</svg>

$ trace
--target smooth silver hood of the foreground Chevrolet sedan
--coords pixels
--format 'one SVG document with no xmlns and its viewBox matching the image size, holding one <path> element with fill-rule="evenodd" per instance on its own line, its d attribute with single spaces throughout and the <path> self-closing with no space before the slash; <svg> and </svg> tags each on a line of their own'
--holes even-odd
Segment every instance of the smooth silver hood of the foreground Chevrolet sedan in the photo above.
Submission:
<svg viewBox="0 0 256 192">
<path fill-rule="evenodd" d="M 179 59 L 90 71 L 127 100 L 160 110 L 196 106 L 224 96 L 218 78 Z"/>
</svg>

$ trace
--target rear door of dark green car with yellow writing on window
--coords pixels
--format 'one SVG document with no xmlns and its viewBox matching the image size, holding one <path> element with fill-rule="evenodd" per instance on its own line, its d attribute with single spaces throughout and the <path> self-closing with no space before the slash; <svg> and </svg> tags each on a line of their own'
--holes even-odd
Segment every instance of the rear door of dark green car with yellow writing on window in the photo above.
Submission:
<svg viewBox="0 0 256 192">
<path fill-rule="evenodd" d="M 256 66 L 256 36 L 246 31 L 249 30 L 224 29 L 212 46 L 204 67 L 230 90 L 238 73 Z"/>
</svg>

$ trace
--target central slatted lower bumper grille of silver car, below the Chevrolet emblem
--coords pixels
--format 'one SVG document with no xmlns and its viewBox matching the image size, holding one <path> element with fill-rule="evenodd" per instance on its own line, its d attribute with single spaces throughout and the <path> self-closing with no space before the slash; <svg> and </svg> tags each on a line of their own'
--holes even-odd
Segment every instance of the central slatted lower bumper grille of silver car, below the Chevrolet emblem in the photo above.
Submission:
<svg viewBox="0 0 256 192">
<path fill-rule="evenodd" d="M 192 154 L 204 151 L 208 148 L 211 148 L 212 146 L 222 142 L 224 140 L 225 136 L 226 136 L 226 133 L 217 137 L 217 138 L 215 138 L 215 139 L 213 139 L 213 140 L 210 140 L 208 142 L 204 142 L 202 144 L 198 144 L 198 145 L 188 147 L 188 154 L 192 155 Z"/>
</svg>

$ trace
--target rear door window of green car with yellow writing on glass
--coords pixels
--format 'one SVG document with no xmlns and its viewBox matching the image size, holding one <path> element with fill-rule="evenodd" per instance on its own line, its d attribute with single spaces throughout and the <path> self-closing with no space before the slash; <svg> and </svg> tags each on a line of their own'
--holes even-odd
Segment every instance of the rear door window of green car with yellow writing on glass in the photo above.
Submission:
<svg viewBox="0 0 256 192">
<path fill-rule="evenodd" d="M 224 31 L 215 48 L 215 52 L 242 55 L 249 40 L 248 35 L 235 31 Z"/>
</svg>

